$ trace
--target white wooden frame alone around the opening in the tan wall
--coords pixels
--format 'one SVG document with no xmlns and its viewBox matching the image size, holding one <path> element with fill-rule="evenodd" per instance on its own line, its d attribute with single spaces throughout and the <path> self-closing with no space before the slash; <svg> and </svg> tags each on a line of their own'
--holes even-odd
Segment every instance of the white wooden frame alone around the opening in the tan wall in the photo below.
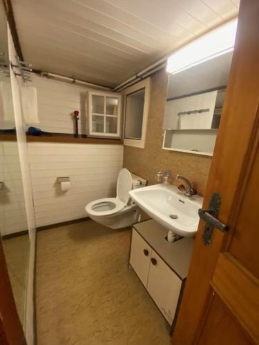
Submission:
<svg viewBox="0 0 259 345">
<path fill-rule="evenodd" d="M 144 89 L 144 108 L 143 108 L 143 117 L 142 117 L 142 135 L 141 139 L 127 139 L 125 138 L 125 126 L 126 126 L 126 97 L 137 91 Z M 125 146 L 132 146 L 135 148 L 145 148 L 146 142 L 146 129 L 148 124 L 148 112 L 149 112 L 149 103 L 150 103 L 150 94 L 151 94 L 151 78 L 148 77 L 138 83 L 135 83 L 133 86 L 126 88 L 124 91 L 124 130 L 123 130 L 123 141 Z"/>
</svg>

